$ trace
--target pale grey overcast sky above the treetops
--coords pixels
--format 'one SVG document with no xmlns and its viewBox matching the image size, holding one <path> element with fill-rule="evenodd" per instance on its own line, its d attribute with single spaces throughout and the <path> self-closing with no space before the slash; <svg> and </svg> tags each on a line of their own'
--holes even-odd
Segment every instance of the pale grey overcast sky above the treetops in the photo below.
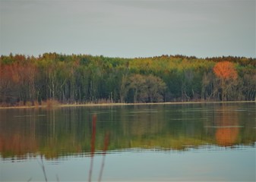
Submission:
<svg viewBox="0 0 256 182">
<path fill-rule="evenodd" d="M 255 0 L 0 0 L 0 55 L 255 58 Z"/>
</svg>

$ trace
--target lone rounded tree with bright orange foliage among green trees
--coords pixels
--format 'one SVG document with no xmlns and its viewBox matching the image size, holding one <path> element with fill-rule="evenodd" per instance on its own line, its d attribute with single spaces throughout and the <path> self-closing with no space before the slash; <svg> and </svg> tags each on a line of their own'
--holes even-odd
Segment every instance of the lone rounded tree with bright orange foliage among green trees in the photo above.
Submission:
<svg viewBox="0 0 256 182">
<path fill-rule="evenodd" d="M 235 85 L 235 80 L 238 78 L 237 71 L 232 62 L 222 61 L 215 64 L 213 72 L 220 79 L 220 88 L 222 90 L 222 101 L 227 99 L 226 94 L 232 86 Z"/>
</svg>

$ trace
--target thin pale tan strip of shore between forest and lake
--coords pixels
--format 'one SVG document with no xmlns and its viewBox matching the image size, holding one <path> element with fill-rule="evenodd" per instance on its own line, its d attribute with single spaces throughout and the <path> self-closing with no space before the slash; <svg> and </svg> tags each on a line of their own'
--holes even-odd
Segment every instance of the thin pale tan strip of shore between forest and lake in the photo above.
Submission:
<svg viewBox="0 0 256 182">
<path fill-rule="evenodd" d="M 220 104 L 220 103 L 256 103 L 256 101 L 199 101 L 199 102 L 150 102 L 150 103 L 100 103 L 100 104 L 60 104 L 53 105 L 50 108 L 68 108 L 68 107 L 103 107 L 103 106 L 123 106 L 123 105 L 185 105 L 185 104 Z M 14 108 L 48 108 L 46 105 L 39 106 L 11 106 L 0 107 L 0 109 Z"/>
</svg>

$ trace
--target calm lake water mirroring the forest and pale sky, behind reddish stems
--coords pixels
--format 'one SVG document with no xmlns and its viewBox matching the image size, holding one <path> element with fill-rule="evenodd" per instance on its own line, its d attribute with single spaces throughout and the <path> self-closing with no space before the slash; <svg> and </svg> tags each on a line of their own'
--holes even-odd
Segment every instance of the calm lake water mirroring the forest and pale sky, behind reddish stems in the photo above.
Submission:
<svg viewBox="0 0 256 182">
<path fill-rule="evenodd" d="M 0 109 L 0 180 L 255 181 L 256 105 Z"/>
</svg>

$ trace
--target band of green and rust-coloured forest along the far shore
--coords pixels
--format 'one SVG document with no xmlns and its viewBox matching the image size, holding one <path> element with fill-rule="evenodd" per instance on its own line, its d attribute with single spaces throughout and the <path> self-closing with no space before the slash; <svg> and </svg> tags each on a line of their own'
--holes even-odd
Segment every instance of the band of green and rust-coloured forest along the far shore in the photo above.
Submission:
<svg viewBox="0 0 256 182">
<path fill-rule="evenodd" d="M 57 53 L 0 58 L 0 106 L 47 101 L 251 101 L 255 95 L 255 58 L 108 58 Z"/>
</svg>

